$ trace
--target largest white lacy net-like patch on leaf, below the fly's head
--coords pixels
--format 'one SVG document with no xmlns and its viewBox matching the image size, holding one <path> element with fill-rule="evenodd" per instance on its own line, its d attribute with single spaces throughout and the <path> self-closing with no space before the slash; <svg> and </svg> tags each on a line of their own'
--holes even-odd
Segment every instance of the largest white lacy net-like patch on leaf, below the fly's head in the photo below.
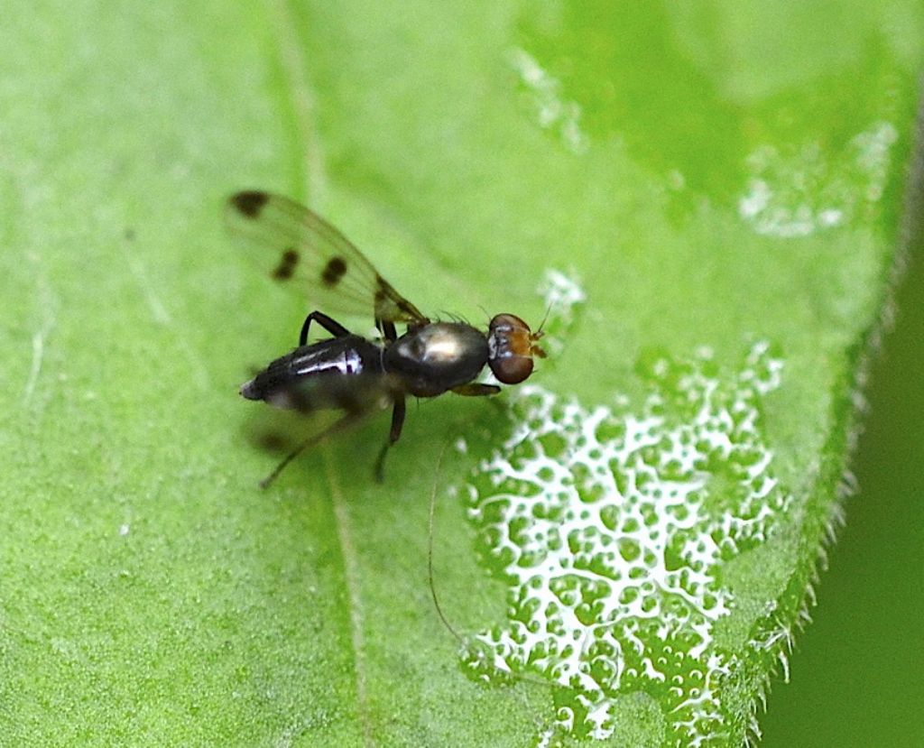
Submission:
<svg viewBox="0 0 924 748">
<path fill-rule="evenodd" d="M 719 686 L 736 660 L 713 631 L 735 599 L 719 572 L 790 503 L 758 423 L 781 368 L 764 343 L 735 372 L 708 351 L 659 358 L 638 412 L 523 388 L 513 432 L 468 480 L 481 557 L 510 605 L 476 637 L 492 658 L 472 649 L 468 667 L 570 689 L 562 733 L 607 738 L 615 699 L 644 691 L 667 706 L 675 744 L 727 737 Z"/>
</svg>

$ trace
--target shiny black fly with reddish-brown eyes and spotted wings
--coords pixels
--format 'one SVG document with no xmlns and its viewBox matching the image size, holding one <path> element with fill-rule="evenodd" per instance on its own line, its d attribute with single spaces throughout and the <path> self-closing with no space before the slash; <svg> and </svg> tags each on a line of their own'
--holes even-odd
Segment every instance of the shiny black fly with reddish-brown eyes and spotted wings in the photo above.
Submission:
<svg viewBox="0 0 924 748">
<path fill-rule="evenodd" d="M 310 292 L 331 312 L 371 314 L 381 334 L 369 340 L 316 309 L 305 318 L 298 347 L 241 386 L 249 400 L 302 413 L 343 412 L 290 452 L 261 481 L 263 488 L 306 448 L 391 404 L 391 429 L 375 463 L 381 481 L 385 454 L 401 436 L 408 396 L 496 394 L 497 385 L 475 381 L 485 366 L 503 384 L 518 384 L 532 373 L 533 357 L 545 356 L 538 344 L 541 330 L 532 332 L 513 314 L 493 317 L 487 332 L 424 316 L 346 236 L 290 199 L 259 190 L 237 192 L 227 200 L 225 215 L 233 233 L 260 248 L 257 259 L 276 282 L 300 294 Z M 312 324 L 331 337 L 309 344 Z M 396 325 L 405 332 L 399 335 Z"/>
</svg>

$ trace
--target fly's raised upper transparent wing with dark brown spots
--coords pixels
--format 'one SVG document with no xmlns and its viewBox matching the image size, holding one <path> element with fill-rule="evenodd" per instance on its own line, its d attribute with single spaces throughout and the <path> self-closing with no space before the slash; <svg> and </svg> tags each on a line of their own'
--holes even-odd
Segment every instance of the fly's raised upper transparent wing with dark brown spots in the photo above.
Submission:
<svg viewBox="0 0 924 748">
<path fill-rule="evenodd" d="M 232 233 L 260 247 L 258 261 L 280 284 L 319 308 L 385 322 L 426 318 L 401 296 L 353 244 L 317 213 L 269 192 L 237 192 L 227 200 Z"/>
</svg>

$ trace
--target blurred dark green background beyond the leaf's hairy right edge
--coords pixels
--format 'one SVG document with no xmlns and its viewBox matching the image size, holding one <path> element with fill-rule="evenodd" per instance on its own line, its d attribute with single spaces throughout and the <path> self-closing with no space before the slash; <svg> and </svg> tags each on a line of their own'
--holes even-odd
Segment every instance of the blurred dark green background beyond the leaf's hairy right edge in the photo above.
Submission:
<svg viewBox="0 0 924 748">
<path fill-rule="evenodd" d="M 918 180 L 920 175 L 918 174 Z M 921 214 L 920 200 L 912 213 Z M 918 746 L 924 704 L 924 257 L 912 242 L 897 319 L 873 356 L 854 460 L 857 495 L 796 637 L 791 682 L 774 683 L 765 748 Z"/>
</svg>

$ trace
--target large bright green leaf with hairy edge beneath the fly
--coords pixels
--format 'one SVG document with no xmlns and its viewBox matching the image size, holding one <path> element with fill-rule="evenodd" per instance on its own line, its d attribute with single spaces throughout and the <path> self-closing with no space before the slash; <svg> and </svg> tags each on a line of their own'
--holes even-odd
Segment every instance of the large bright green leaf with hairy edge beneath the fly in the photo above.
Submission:
<svg viewBox="0 0 924 748">
<path fill-rule="evenodd" d="M 753 734 L 849 489 L 918 4 L 126 10 L 0 29 L 5 740 Z M 551 356 L 410 407 L 383 486 L 385 416 L 259 490 L 318 424 L 237 395 L 310 310 L 223 234 L 245 187 L 419 308 L 548 308 Z"/>
</svg>

